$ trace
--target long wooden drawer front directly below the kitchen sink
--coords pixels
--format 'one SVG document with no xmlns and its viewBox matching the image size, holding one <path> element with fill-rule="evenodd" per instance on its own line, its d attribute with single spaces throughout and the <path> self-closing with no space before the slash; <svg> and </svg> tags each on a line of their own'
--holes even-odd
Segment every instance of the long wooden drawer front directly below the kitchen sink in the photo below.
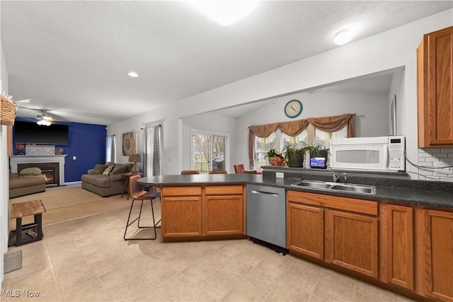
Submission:
<svg viewBox="0 0 453 302">
<path fill-rule="evenodd" d="M 338 197 L 299 191 L 287 191 L 288 202 L 311 204 L 319 207 L 353 211 L 356 213 L 377 216 L 377 202 L 349 197 Z"/>
</svg>

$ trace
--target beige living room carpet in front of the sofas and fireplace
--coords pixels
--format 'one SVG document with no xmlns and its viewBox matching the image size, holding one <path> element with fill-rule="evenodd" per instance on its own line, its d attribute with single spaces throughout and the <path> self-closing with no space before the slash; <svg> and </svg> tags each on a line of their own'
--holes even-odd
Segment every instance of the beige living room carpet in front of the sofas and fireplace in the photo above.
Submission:
<svg viewBox="0 0 453 302">
<path fill-rule="evenodd" d="M 110 197 L 101 197 L 98 194 L 81 188 L 81 185 L 67 185 L 62 187 L 47 187 L 45 192 L 25 195 L 9 199 L 9 208 L 16 202 L 41 199 L 46 212 L 42 214 L 42 224 L 50 224 L 83 216 L 99 214 L 123 207 L 130 207 L 131 200 L 121 194 Z M 33 222 L 33 216 L 22 219 L 22 223 Z M 10 219 L 9 228 L 16 228 L 16 219 Z"/>
</svg>

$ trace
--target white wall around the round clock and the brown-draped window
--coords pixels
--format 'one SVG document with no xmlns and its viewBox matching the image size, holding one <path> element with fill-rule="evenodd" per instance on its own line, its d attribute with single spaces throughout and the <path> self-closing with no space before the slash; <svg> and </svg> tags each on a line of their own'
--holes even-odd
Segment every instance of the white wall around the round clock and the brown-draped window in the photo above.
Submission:
<svg viewBox="0 0 453 302">
<path fill-rule="evenodd" d="M 248 126 L 269 124 L 272 122 L 286 122 L 289 119 L 283 110 L 285 104 L 292 99 L 302 102 L 303 111 L 297 119 L 308 117 L 326 117 L 355 113 L 356 137 L 379 137 L 389 134 L 389 108 L 386 94 L 369 93 L 326 93 L 309 91 L 296 93 L 273 102 L 241 116 L 237 120 L 238 145 L 236 146 L 239 163 L 248 164 Z"/>
</svg>

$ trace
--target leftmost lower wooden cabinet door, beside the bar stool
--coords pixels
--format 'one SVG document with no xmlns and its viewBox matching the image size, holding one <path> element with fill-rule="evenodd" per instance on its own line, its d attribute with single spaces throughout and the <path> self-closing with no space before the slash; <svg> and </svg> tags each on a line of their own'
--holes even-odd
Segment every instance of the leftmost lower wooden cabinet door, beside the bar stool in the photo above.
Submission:
<svg viewBox="0 0 453 302">
<path fill-rule="evenodd" d="M 201 236 L 201 196 L 162 197 L 162 237 Z"/>
</svg>

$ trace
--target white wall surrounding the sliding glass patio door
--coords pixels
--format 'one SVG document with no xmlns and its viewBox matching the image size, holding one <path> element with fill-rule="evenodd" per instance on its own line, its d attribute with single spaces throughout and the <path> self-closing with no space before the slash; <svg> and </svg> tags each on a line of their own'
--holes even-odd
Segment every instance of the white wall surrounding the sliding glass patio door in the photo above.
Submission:
<svg viewBox="0 0 453 302">
<path fill-rule="evenodd" d="M 192 170 L 192 131 L 213 132 L 229 135 L 229 146 L 226 146 L 225 170 L 234 173 L 233 165 L 236 163 L 237 145 L 236 119 L 219 115 L 214 112 L 202 113 L 183 118 L 183 169 Z"/>
</svg>

